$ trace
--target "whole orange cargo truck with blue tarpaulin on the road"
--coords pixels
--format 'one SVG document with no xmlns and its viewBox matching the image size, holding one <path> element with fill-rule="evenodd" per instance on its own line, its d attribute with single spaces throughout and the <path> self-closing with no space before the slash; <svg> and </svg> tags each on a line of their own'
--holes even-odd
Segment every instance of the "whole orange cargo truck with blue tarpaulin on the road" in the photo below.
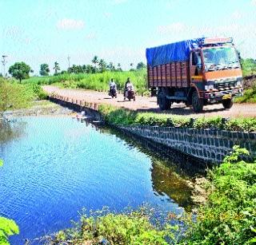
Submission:
<svg viewBox="0 0 256 245">
<path fill-rule="evenodd" d="M 148 86 L 157 95 L 161 110 L 172 103 L 192 105 L 195 113 L 204 105 L 242 96 L 242 69 L 232 38 L 198 38 L 146 49 Z"/>
</svg>

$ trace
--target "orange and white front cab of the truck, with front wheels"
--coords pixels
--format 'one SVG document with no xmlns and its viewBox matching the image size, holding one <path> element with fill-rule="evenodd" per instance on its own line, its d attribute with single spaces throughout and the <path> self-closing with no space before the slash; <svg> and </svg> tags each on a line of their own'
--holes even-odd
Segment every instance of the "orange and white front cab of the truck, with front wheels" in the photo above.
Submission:
<svg viewBox="0 0 256 245">
<path fill-rule="evenodd" d="M 198 112 L 203 105 L 214 103 L 230 109 L 233 97 L 242 96 L 242 69 L 230 38 L 205 39 L 200 49 L 191 50 L 190 86 L 198 97 L 193 99 L 190 93 L 188 101 Z"/>
</svg>

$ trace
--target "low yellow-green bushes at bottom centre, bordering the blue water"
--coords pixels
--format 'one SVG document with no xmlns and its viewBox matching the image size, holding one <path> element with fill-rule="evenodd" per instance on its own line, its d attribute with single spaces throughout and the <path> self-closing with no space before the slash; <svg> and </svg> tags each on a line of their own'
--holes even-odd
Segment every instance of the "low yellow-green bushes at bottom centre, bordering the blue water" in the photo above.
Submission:
<svg viewBox="0 0 256 245">
<path fill-rule="evenodd" d="M 176 242 L 174 231 L 169 223 L 162 226 L 150 223 L 150 212 L 144 207 L 138 211 L 124 213 L 110 212 L 107 209 L 91 212 L 90 216 L 82 215 L 77 229 L 60 231 L 54 243 L 69 240 L 72 244 L 98 244 L 101 239 L 106 239 L 110 244 L 168 244 L 168 237 Z"/>
</svg>

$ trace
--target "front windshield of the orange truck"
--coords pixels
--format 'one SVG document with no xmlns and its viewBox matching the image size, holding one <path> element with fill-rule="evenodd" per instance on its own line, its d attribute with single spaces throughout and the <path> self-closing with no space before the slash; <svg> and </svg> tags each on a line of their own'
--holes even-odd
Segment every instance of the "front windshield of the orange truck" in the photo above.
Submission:
<svg viewBox="0 0 256 245">
<path fill-rule="evenodd" d="M 241 68 L 238 54 L 234 47 L 203 49 L 202 53 L 206 72 L 219 69 Z"/>
</svg>

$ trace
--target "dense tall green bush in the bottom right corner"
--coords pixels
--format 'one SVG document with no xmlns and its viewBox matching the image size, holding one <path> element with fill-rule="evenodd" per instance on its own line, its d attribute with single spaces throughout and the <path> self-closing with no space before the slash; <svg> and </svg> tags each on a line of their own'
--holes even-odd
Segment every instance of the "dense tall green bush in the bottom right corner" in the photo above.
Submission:
<svg viewBox="0 0 256 245">
<path fill-rule="evenodd" d="M 256 239 L 256 164 L 240 160 L 244 148 L 234 146 L 208 178 L 210 195 L 198 211 L 185 244 L 253 244 Z"/>
</svg>

